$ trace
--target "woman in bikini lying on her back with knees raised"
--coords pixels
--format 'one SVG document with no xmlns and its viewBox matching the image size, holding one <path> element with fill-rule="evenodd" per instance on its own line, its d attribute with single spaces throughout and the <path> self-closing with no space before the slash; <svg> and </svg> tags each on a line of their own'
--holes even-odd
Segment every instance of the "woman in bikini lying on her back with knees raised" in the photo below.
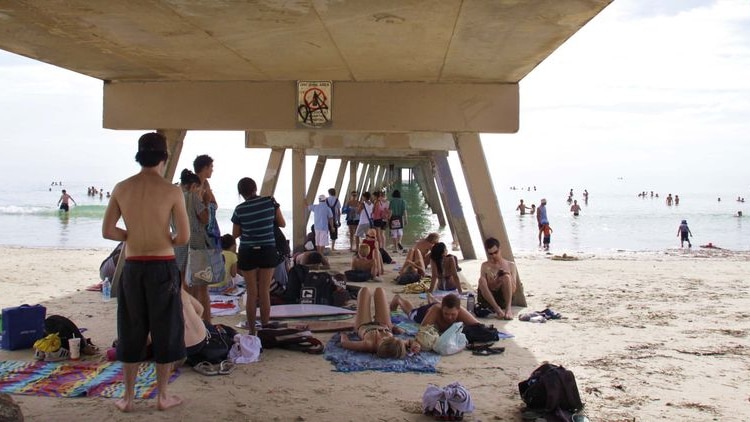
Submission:
<svg viewBox="0 0 750 422">
<path fill-rule="evenodd" d="M 419 353 L 422 347 L 416 340 L 401 340 L 393 337 L 397 327 L 391 322 L 388 301 L 382 287 L 375 289 L 375 315 L 373 318 L 370 289 L 363 287 L 357 296 L 355 326 L 361 340 L 350 340 L 346 333 L 341 335 L 341 347 L 357 352 L 375 353 L 380 358 L 403 359 L 409 353 Z"/>
</svg>

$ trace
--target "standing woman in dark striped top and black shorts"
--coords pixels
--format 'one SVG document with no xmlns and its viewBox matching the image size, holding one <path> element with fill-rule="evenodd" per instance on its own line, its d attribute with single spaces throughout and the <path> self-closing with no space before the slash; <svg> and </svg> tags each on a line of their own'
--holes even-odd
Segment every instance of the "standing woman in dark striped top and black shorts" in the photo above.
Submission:
<svg viewBox="0 0 750 422">
<path fill-rule="evenodd" d="M 255 308 L 260 301 L 260 322 L 271 319 L 271 278 L 279 263 L 274 224 L 286 226 L 279 204 L 273 197 L 258 196 L 258 187 L 249 177 L 240 179 L 237 191 L 245 202 L 237 205 L 232 214 L 232 235 L 240 238 L 237 268 L 247 283 L 247 322 L 250 334 L 255 334 Z"/>
</svg>

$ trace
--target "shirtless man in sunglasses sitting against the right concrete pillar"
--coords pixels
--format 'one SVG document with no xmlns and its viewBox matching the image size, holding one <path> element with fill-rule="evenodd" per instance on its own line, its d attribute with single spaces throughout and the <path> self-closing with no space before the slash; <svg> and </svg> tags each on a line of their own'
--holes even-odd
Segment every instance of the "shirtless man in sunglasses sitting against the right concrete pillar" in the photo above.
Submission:
<svg viewBox="0 0 750 422">
<path fill-rule="evenodd" d="M 503 259 L 500 255 L 500 241 L 494 237 L 484 241 L 484 249 L 487 251 L 487 261 L 479 269 L 478 305 L 493 309 L 499 319 L 511 320 L 511 300 L 516 291 L 516 265 Z"/>
</svg>

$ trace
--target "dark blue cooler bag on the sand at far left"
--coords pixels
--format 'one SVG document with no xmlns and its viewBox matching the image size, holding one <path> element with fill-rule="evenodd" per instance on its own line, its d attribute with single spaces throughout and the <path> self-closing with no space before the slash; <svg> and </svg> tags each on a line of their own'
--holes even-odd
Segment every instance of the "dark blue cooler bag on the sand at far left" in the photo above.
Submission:
<svg viewBox="0 0 750 422">
<path fill-rule="evenodd" d="M 3 342 L 6 350 L 30 349 L 44 337 L 47 308 L 42 305 L 21 305 L 3 309 Z"/>
</svg>

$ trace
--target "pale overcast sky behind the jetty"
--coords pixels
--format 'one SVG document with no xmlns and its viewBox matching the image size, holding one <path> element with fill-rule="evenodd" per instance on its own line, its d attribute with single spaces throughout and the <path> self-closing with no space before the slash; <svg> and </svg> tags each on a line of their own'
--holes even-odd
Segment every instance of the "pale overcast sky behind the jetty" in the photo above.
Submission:
<svg viewBox="0 0 750 422">
<path fill-rule="evenodd" d="M 746 191 L 748 75 L 750 2 L 615 0 L 521 81 L 519 132 L 482 135 L 496 191 L 595 191 L 622 180 L 644 190 Z M 103 129 L 101 103 L 101 81 L 0 50 L 6 171 L 92 185 L 136 172 L 141 132 Z M 232 187 L 262 178 L 268 156 L 246 150 L 241 132 L 189 132 L 178 169 L 201 153 L 215 160 L 213 185 Z M 281 189 L 291 183 L 289 162 Z M 455 154 L 451 163 L 460 182 Z M 327 166 L 324 178 L 337 169 Z"/>
</svg>

